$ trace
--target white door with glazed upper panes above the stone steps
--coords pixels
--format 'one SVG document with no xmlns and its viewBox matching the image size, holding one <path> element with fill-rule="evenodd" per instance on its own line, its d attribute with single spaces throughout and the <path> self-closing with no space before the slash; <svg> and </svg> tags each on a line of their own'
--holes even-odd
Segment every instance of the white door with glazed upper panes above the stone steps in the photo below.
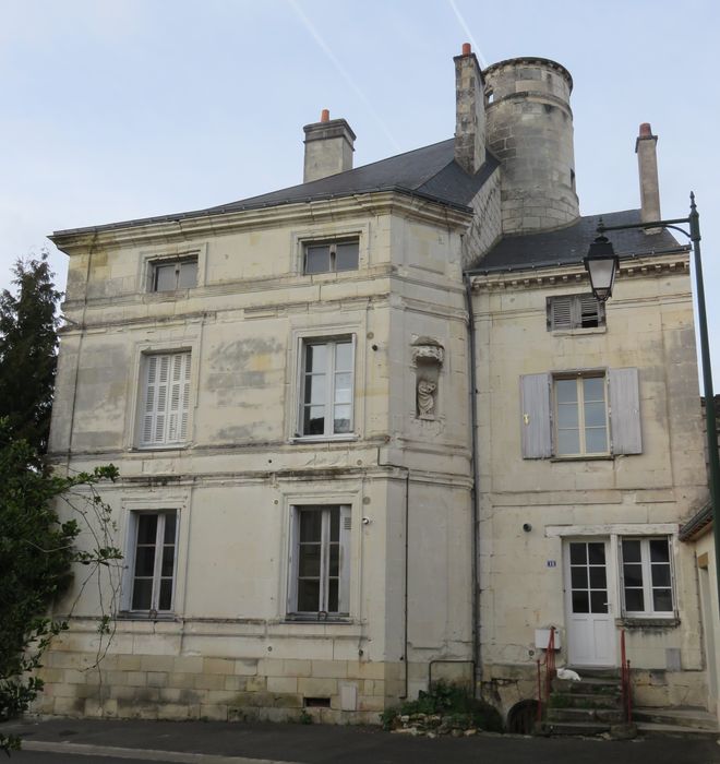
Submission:
<svg viewBox="0 0 720 764">
<path fill-rule="evenodd" d="M 571 666 L 615 666 L 615 623 L 605 540 L 565 545 L 565 611 Z"/>
</svg>

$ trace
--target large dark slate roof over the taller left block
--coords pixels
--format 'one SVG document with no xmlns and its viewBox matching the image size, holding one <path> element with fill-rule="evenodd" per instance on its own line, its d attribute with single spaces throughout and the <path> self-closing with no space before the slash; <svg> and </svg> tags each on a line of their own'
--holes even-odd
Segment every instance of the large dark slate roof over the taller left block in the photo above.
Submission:
<svg viewBox="0 0 720 764">
<path fill-rule="evenodd" d="M 257 210 L 281 204 L 321 201 L 351 196 L 373 191 L 397 191 L 422 196 L 449 206 L 467 208 L 475 194 L 492 175 L 500 163 L 491 154 L 478 172 L 468 175 L 455 162 L 455 141 L 449 139 L 430 146 L 416 148 L 381 162 L 309 183 L 300 183 L 280 191 L 251 196 L 238 202 L 197 210 L 194 212 L 124 220 L 103 226 L 89 226 L 56 231 L 55 236 L 80 234 L 112 228 L 130 228 L 145 223 L 165 223 L 194 217 L 221 215 L 242 210 Z"/>
</svg>

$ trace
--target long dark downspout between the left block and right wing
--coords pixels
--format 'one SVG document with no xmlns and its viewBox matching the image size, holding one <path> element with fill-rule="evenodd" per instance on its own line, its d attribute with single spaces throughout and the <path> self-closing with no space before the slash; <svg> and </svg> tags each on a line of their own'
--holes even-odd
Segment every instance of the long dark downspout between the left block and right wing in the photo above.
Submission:
<svg viewBox="0 0 720 764">
<path fill-rule="evenodd" d="M 475 354 L 475 313 L 472 312 L 472 285 L 467 273 L 463 274 L 465 280 L 465 300 L 468 311 L 468 359 L 470 363 L 470 455 L 472 458 L 472 485 L 470 488 L 470 501 L 472 502 L 472 693 L 478 694 L 478 671 L 482 676 L 480 662 L 480 571 L 478 561 L 478 399 L 477 399 L 477 373 Z"/>
</svg>

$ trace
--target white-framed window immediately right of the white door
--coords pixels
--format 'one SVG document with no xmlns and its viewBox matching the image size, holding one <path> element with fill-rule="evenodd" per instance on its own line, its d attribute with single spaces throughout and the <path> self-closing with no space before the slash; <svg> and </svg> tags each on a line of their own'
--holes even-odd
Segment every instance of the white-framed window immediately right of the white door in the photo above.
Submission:
<svg viewBox="0 0 720 764">
<path fill-rule="evenodd" d="M 624 612 L 637 618 L 673 614 L 668 539 L 624 538 L 621 551 Z"/>
</svg>

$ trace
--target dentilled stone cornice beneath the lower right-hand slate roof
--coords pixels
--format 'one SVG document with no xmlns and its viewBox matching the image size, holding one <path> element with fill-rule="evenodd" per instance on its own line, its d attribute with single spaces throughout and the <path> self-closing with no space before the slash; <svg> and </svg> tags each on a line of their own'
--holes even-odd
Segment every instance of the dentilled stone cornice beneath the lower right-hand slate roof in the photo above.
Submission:
<svg viewBox="0 0 720 764">
<path fill-rule="evenodd" d="M 621 260 L 616 279 L 652 278 L 672 274 L 689 273 L 688 252 L 672 252 L 663 255 L 637 256 L 632 260 Z M 572 284 L 588 284 L 588 274 L 583 263 L 557 265 L 556 267 L 527 268 L 505 271 L 489 274 L 477 274 L 471 277 L 473 291 L 499 291 L 511 289 L 548 288 Z"/>
</svg>

